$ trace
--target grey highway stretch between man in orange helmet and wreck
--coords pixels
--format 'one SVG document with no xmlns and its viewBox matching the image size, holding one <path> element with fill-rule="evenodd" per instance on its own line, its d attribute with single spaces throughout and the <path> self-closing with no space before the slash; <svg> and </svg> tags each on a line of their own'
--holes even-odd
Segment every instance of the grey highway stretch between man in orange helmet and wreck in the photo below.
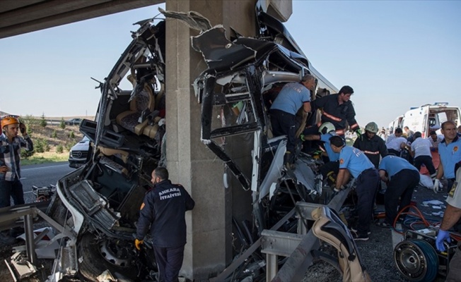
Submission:
<svg viewBox="0 0 461 282">
<path fill-rule="evenodd" d="M 67 173 L 74 171 L 75 168 L 69 167 L 69 162 L 33 164 L 21 167 L 21 183 L 23 183 L 24 200 L 26 203 L 34 202 L 35 195 L 32 186 L 56 185 L 57 180 Z"/>
</svg>

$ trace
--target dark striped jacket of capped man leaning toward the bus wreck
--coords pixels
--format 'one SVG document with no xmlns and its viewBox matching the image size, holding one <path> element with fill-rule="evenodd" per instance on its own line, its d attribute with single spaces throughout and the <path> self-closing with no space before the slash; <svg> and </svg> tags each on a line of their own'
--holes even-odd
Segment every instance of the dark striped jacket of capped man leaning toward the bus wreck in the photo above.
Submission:
<svg viewBox="0 0 461 282">
<path fill-rule="evenodd" d="M 329 121 L 333 123 L 337 130 L 346 128 L 346 121 L 349 123 L 351 130 L 359 128 L 356 121 L 356 111 L 351 100 L 338 103 L 338 94 L 331 94 L 315 99 L 310 102 L 313 109 L 322 109 L 322 123 Z"/>
</svg>

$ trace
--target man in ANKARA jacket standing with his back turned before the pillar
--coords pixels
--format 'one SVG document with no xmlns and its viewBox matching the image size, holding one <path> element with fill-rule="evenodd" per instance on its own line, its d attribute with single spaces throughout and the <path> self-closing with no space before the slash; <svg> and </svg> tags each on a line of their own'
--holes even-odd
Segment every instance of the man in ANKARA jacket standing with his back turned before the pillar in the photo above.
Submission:
<svg viewBox="0 0 461 282">
<path fill-rule="evenodd" d="M 182 185 L 168 180 L 166 168 L 154 169 L 151 182 L 153 188 L 141 204 L 134 245 L 141 250 L 150 230 L 160 281 L 178 281 L 186 245 L 185 212 L 193 209 L 195 202 Z"/>
</svg>

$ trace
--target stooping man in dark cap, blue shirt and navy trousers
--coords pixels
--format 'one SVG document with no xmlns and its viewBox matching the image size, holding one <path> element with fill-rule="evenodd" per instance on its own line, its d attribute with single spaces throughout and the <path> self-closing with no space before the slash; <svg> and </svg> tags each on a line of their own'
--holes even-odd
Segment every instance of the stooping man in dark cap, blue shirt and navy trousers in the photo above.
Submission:
<svg viewBox="0 0 461 282">
<path fill-rule="evenodd" d="M 333 136 L 329 138 L 329 142 L 333 152 L 339 153 L 339 173 L 335 192 L 344 187 L 350 175 L 356 178 L 358 226 L 357 232 L 353 235 L 354 240 L 366 241 L 370 232 L 373 204 L 380 180 L 378 170 L 361 150 L 346 146 L 342 137 Z M 354 231 L 354 229 L 351 230 Z"/>
</svg>

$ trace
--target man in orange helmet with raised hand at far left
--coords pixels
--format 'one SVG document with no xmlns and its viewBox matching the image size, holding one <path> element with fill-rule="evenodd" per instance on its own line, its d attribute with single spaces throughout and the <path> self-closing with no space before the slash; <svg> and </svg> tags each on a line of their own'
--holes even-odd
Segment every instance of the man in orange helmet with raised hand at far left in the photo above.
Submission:
<svg viewBox="0 0 461 282">
<path fill-rule="evenodd" d="M 27 134 L 27 128 L 18 118 L 6 116 L 1 118 L 2 134 L 0 135 L 0 208 L 13 204 L 24 204 L 23 184 L 21 183 L 21 149 L 32 151 L 33 142 Z M 21 131 L 23 137 L 18 136 Z M 11 235 L 16 235 L 11 229 Z M 0 241 L 11 244 L 13 236 L 0 233 Z"/>
</svg>

